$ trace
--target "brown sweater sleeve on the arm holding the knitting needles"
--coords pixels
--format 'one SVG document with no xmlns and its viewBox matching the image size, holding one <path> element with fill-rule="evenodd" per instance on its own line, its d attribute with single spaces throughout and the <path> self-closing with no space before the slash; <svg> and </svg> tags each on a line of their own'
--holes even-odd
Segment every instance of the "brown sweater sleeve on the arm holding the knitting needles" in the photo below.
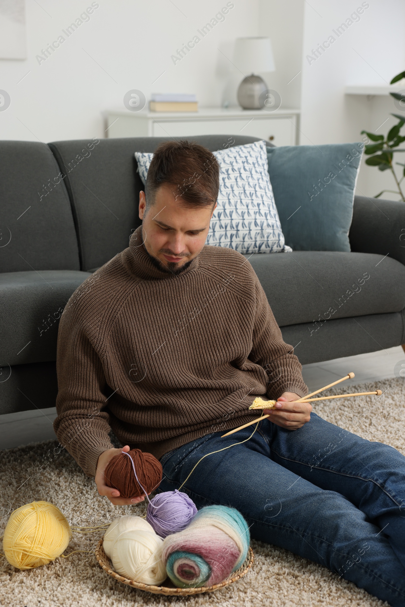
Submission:
<svg viewBox="0 0 405 607">
<path fill-rule="evenodd" d="M 283 392 L 294 392 L 300 397 L 308 393 L 302 379 L 302 366 L 293 354 L 293 347 L 285 344 L 281 330 L 268 304 L 266 294 L 254 274 L 256 314 L 253 328 L 253 348 L 250 360 L 263 367 L 268 376 L 267 396 L 277 399 Z"/>
</svg>

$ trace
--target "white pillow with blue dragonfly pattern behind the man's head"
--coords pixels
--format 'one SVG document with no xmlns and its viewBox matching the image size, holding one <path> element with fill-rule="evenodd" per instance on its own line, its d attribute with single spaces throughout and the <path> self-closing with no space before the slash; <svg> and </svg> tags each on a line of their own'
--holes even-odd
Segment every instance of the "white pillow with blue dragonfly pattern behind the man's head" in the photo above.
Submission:
<svg viewBox="0 0 405 607">
<path fill-rule="evenodd" d="M 213 154 L 220 166 L 219 194 L 206 244 L 235 249 L 244 255 L 292 251 L 284 242 L 274 203 L 265 142 Z M 152 157 L 152 153 L 135 152 L 144 184 Z"/>
</svg>

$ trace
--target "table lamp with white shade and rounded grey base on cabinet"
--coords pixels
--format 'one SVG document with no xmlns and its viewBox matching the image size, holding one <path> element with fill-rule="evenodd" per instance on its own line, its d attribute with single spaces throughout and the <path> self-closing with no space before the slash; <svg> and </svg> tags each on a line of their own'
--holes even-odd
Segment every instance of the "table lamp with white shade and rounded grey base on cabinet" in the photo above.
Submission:
<svg viewBox="0 0 405 607">
<path fill-rule="evenodd" d="M 237 100 L 244 109 L 260 109 L 259 96 L 267 90 L 267 84 L 256 74 L 276 69 L 270 38 L 236 38 L 233 63 L 248 74 L 239 84 Z"/>
</svg>

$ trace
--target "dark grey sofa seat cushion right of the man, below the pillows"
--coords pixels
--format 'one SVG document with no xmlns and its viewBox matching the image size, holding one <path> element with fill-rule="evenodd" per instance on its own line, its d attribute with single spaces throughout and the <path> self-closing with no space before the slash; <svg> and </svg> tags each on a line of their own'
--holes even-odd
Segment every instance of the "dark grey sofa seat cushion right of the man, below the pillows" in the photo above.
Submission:
<svg viewBox="0 0 405 607">
<path fill-rule="evenodd" d="M 405 266 L 391 257 L 293 251 L 247 259 L 280 327 L 405 308 Z"/>
</svg>

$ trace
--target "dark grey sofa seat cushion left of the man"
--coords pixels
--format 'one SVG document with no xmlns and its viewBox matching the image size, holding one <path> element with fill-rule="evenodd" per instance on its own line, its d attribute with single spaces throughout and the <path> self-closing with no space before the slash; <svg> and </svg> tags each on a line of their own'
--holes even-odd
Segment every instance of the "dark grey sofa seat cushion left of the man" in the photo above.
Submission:
<svg viewBox="0 0 405 607">
<path fill-rule="evenodd" d="M 58 324 L 88 272 L 43 270 L 0 274 L 0 366 L 56 360 Z"/>
</svg>

